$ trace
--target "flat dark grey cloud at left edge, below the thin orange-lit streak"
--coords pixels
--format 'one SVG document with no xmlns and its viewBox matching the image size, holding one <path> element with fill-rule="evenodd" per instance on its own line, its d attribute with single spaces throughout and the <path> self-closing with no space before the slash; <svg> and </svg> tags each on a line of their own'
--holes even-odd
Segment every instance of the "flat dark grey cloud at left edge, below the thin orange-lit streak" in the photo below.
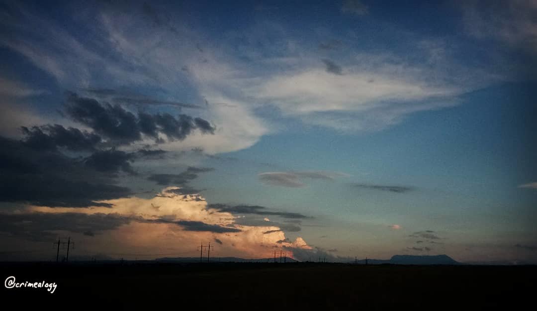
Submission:
<svg viewBox="0 0 537 311">
<path fill-rule="evenodd" d="M 0 214 L 0 234 L 22 236 L 35 241 L 56 237 L 55 231 L 69 231 L 94 236 L 132 221 L 118 214 L 27 213 Z"/>
</svg>

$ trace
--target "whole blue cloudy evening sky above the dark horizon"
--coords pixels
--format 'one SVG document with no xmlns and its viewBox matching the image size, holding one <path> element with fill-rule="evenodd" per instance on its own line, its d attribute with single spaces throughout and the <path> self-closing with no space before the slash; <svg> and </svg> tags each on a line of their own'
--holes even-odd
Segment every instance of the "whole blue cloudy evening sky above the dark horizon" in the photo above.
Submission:
<svg viewBox="0 0 537 311">
<path fill-rule="evenodd" d="M 0 2 L 0 260 L 537 263 L 537 2 Z M 62 256 L 65 250 L 61 250 Z"/>
</svg>

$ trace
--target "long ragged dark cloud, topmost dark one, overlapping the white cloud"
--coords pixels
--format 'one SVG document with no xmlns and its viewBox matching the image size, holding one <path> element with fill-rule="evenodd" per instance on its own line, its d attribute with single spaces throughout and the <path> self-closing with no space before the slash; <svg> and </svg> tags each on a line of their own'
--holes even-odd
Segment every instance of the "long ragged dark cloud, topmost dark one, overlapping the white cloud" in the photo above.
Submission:
<svg viewBox="0 0 537 311">
<path fill-rule="evenodd" d="M 142 135 L 157 142 L 162 142 L 159 134 L 164 134 L 170 141 L 183 140 L 195 129 L 204 134 L 214 134 L 215 130 L 208 121 L 186 114 L 174 117 L 169 113 L 139 112 L 135 115 L 118 103 L 100 104 L 96 99 L 79 97 L 73 92 L 67 93 L 66 113 L 115 144 L 130 144 L 141 140 Z"/>
</svg>

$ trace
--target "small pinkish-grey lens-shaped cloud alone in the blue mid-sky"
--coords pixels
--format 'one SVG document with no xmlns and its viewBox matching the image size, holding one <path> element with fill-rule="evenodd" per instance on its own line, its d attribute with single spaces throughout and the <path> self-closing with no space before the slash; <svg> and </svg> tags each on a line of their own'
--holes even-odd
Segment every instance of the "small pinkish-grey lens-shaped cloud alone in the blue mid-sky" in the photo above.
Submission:
<svg viewBox="0 0 537 311">
<path fill-rule="evenodd" d="M 264 184 L 291 188 L 306 186 L 301 179 L 333 180 L 340 176 L 348 175 L 330 171 L 265 172 L 258 174 L 259 180 Z"/>
</svg>

